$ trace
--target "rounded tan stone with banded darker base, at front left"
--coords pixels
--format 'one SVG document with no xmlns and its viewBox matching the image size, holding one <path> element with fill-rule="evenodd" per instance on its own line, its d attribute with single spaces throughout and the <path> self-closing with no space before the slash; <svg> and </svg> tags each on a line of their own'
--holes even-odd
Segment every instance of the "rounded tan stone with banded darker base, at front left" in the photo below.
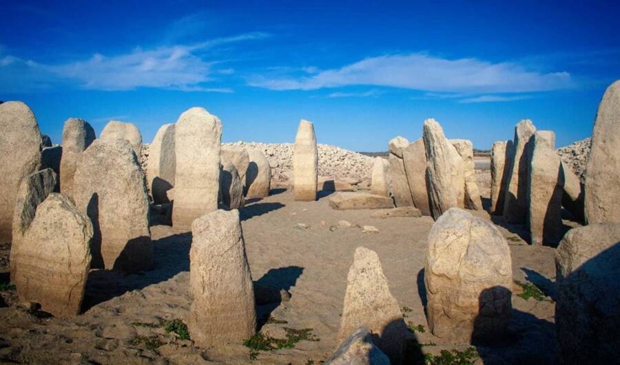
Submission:
<svg viewBox="0 0 620 365">
<path fill-rule="evenodd" d="M 90 219 L 69 197 L 52 193 L 37 208 L 19 247 L 14 278 L 21 302 L 60 318 L 80 313 L 90 270 Z"/>
</svg>

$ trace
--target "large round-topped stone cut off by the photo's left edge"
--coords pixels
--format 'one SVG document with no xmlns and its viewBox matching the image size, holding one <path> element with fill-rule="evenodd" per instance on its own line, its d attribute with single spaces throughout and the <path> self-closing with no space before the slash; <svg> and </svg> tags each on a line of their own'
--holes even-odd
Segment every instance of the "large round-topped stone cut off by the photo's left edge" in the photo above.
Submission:
<svg viewBox="0 0 620 365">
<path fill-rule="evenodd" d="M 41 132 L 23 102 L 0 104 L 0 241 L 11 241 L 13 209 L 24 176 L 41 166 Z"/>
</svg>

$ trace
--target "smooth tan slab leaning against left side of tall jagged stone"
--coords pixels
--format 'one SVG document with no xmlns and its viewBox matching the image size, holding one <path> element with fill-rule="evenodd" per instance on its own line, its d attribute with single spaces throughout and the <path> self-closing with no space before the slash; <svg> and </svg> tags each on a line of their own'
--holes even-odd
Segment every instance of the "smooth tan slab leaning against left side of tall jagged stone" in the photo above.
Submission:
<svg viewBox="0 0 620 365">
<path fill-rule="evenodd" d="M 428 202 L 428 188 L 426 186 L 426 151 L 424 140 L 411 142 L 403 149 L 404 161 L 409 190 L 413 198 L 413 204 L 424 215 L 431 215 L 431 206 Z"/>
</svg>

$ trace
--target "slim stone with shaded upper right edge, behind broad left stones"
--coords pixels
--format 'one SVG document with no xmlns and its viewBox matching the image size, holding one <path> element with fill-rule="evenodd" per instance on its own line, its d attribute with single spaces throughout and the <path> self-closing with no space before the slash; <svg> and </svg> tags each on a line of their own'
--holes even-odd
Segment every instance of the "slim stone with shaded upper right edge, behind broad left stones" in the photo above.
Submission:
<svg viewBox="0 0 620 365">
<path fill-rule="evenodd" d="M 61 158 L 60 191 L 73 197 L 73 177 L 80 154 L 95 140 L 92 126 L 85 120 L 69 118 L 63 127 L 63 156 Z"/>
</svg>

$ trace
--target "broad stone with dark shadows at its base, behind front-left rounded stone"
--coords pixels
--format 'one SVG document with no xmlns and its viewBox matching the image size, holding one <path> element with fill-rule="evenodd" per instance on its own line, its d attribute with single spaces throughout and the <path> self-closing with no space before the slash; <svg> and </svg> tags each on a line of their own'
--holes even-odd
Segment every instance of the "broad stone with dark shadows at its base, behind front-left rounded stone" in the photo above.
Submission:
<svg viewBox="0 0 620 365">
<path fill-rule="evenodd" d="M 123 272 L 152 267 L 146 181 L 127 140 L 96 140 L 81 153 L 73 195 L 94 228 L 92 267 Z"/>
</svg>

